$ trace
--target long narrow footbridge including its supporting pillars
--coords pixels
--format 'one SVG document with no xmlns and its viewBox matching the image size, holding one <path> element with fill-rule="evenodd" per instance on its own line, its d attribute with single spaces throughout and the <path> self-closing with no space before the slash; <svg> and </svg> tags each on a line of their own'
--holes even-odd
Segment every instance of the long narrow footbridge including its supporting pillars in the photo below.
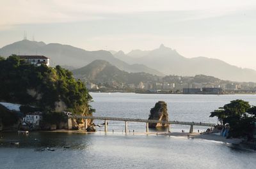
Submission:
<svg viewBox="0 0 256 169">
<path fill-rule="evenodd" d="M 108 131 L 108 121 L 124 121 L 125 122 L 125 133 L 128 131 L 127 122 L 145 122 L 146 123 L 146 132 L 148 132 L 148 123 L 161 123 L 168 125 L 168 132 L 170 132 L 170 124 L 179 124 L 179 125 L 188 125 L 190 126 L 189 133 L 193 133 L 193 126 L 207 126 L 214 127 L 216 124 L 205 123 L 205 122 L 184 122 L 184 121 L 157 121 L 157 120 L 148 120 L 148 119 L 131 119 L 131 118 L 120 118 L 120 117 L 99 117 L 99 116 L 84 116 L 84 115 L 70 115 L 69 118 L 73 119 L 84 119 L 84 127 L 87 128 L 88 122 L 87 119 L 103 120 L 105 121 L 105 132 Z"/>
</svg>

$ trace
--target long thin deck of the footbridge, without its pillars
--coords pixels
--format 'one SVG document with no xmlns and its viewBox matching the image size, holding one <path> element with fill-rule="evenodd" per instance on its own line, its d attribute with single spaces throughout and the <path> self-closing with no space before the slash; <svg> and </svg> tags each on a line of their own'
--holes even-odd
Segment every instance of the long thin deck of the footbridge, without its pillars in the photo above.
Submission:
<svg viewBox="0 0 256 169">
<path fill-rule="evenodd" d="M 208 126 L 214 127 L 216 124 L 205 122 L 182 122 L 182 121 L 157 121 L 148 119 L 131 119 L 131 118 L 119 118 L 119 117 L 99 117 L 99 116 L 84 116 L 84 115 L 72 115 L 74 119 L 95 119 L 106 121 L 130 121 L 130 122 L 148 122 L 148 123 L 162 123 L 162 124 L 180 124 L 180 125 L 193 125 L 193 126 Z"/>
</svg>

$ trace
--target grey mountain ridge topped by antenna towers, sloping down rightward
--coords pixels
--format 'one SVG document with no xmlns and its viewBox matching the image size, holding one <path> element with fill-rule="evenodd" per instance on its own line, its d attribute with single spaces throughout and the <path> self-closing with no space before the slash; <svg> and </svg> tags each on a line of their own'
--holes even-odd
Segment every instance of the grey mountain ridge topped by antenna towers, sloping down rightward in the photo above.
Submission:
<svg viewBox="0 0 256 169">
<path fill-rule="evenodd" d="M 0 48 L 0 55 L 8 57 L 12 54 L 45 55 L 51 58 L 51 64 L 53 66 L 60 64 L 65 65 L 67 68 L 79 68 L 97 59 L 102 59 L 115 65 L 120 70 L 128 72 L 147 72 L 159 76 L 164 75 L 143 64 L 127 64 L 126 62 L 113 57 L 113 55 L 106 50 L 87 51 L 70 45 L 61 45 L 60 43 L 45 44 L 42 41 L 22 40 Z"/>
</svg>

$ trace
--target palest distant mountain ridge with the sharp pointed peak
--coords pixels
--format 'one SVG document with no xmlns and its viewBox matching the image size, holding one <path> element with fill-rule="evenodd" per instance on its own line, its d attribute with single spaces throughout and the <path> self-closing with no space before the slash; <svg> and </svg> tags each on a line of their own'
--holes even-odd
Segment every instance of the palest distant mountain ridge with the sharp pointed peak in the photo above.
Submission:
<svg viewBox="0 0 256 169">
<path fill-rule="evenodd" d="M 165 75 L 195 76 L 202 74 L 236 82 L 256 82 L 255 70 L 239 68 L 219 59 L 208 57 L 186 58 L 176 50 L 164 47 L 164 45 L 150 51 L 133 51 L 136 52 L 132 53 L 132 57 L 129 56 L 131 52 L 122 55 L 116 53 L 114 56 L 129 62 L 129 64 L 143 63 Z"/>
</svg>

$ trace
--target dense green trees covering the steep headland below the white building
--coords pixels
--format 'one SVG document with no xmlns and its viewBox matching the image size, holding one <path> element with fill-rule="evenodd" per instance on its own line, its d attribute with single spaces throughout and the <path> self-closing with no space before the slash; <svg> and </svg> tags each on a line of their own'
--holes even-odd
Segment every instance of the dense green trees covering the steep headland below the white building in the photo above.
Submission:
<svg viewBox="0 0 256 169">
<path fill-rule="evenodd" d="M 66 110 L 79 114 L 92 114 L 83 82 L 75 80 L 68 70 L 56 66 L 34 66 L 16 55 L 0 58 L 0 100 L 31 105 L 47 112 L 56 109 L 56 103 L 65 103 Z"/>
</svg>

